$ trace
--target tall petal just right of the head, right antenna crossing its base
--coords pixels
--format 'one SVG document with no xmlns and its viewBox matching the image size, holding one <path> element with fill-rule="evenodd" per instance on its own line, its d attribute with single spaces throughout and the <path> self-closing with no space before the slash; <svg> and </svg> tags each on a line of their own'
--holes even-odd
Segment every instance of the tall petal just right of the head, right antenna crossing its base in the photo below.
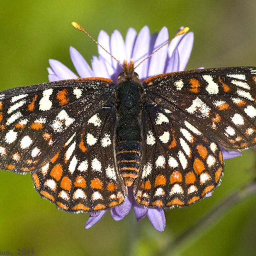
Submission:
<svg viewBox="0 0 256 256">
<path fill-rule="evenodd" d="M 150 31 L 148 26 L 144 26 L 137 38 L 134 45 L 134 51 L 132 54 L 132 59 L 134 60 L 134 66 L 136 66 L 140 61 L 148 56 L 150 44 Z M 140 79 L 147 77 L 148 73 L 148 60 L 145 60 L 138 68 L 136 68 L 136 73 L 138 73 Z"/>
</svg>

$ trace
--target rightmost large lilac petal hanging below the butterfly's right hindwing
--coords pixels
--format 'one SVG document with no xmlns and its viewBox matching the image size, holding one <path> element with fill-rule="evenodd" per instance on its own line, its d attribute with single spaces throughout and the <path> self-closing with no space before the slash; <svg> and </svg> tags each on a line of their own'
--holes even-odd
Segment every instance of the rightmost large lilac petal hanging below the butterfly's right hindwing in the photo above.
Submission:
<svg viewBox="0 0 256 256">
<path fill-rule="evenodd" d="M 166 220 L 165 220 L 164 210 L 162 208 L 149 208 L 147 215 L 152 226 L 157 231 L 159 232 L 164 231 Z"/>
</svg>

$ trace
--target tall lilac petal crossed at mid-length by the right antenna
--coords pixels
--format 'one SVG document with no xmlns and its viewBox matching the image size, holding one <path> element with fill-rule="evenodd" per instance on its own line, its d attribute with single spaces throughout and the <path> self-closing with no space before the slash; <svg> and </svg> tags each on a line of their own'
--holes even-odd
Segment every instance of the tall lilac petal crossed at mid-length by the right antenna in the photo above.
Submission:
<svg viewBox="0 0 256 256">
<path fill-rule="evenodd" d="M 167 42 L 168 37 L 168 29 L 166 27 L 163 27 L 156 38 L 153 51 L 159 48 L 165 42 Z M 154 55 L 151 56 L 148 69 L 148 76 L 155 76 L 164 73 L 164 67 L 167 58 L 167 50 L 168 45 L 164 46 Z"/>
</svg>

